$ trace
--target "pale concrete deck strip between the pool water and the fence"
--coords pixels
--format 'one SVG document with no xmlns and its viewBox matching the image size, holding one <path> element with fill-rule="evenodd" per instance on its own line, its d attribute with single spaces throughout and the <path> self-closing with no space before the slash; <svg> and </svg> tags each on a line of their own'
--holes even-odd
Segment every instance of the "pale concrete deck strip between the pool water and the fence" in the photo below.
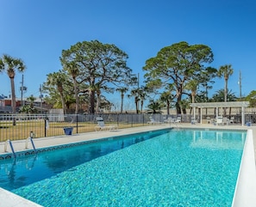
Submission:
<svg viewBox="0 0 256 207">
<path fill-rule="evenodd" d="M 73 135 L 63 135 L 63 136 L 55 136 L 55 137 L 41 137 L 41 138 L 34 138 L 34 146 L 35 149 L 47 148 L 52 146 L 57 146 L 61 144 L 67 143 L 78 143 L 83 141 L 95 140 L 100 139 L 103 137 L 113 137 L 113 136 L 122 136 L 131 133 L 138 133 L 143 131 L 153 131 L 153 130 L 160 130 L 165 128 L 208 128 L 208 129 L 230 129 L 230 130 L 253 130 L 253 143 L 254 143 L 254 153 L 256 154 L 256 125 L 255 126 L 241 126 L 241 125 L 209 125 L 209 124 L 197 124 L 197 125 L 190 125 L 190 124 L 177 124 L 177 125 L 170 125 L 170 124 L 162 124 L 162 125 L 145 125 L 141 127 L 134 127 L 134 128 L 126 128 L 126 129 L 119 129 L 116 131 L 93 131 L 87 133 L 78 133 Z M 28 149 L 33 149 L 33 146 L 30 142 L 28 142 L 28 149 L 25 149 L 26 140 L 16 140 L 12 141 L 13 148 L 16 152 L 24 151 Z M 4 145 L 5 143 L 0 143 L 0 155 L 12 153 L 9 143 L 7 145 L 7 152 L 4 152 Z"/>
</svg>

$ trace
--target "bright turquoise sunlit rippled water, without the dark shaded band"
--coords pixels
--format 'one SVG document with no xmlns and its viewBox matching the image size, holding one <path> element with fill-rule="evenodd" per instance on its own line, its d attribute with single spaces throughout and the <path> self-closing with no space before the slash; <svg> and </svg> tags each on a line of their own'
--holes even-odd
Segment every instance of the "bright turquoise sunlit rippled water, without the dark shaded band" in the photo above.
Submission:
<svg viewBox="0 0 256 207">
<path fill-rule="evenodd" d="M 213 131 L 203 135 L 212 147 L 197 147 L 193 134 L 153 137 L 13 192 L 43 206 L 231 206 L 240 133 L 227 132 L 228 149 Z"/>
</svg>

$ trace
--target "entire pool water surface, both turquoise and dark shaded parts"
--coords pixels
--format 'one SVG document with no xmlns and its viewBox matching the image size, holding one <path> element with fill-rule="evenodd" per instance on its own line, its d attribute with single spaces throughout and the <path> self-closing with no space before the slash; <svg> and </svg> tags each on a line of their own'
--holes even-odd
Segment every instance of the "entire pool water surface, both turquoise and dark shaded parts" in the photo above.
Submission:
<svg viewBox="0 0 256 207">
<path fill-rule="evenodd" d="M 0 186 L 43 206 L 231 206 L 245 137 L 180 130 L 90 143 L 1 161 Z"/>
</svg>

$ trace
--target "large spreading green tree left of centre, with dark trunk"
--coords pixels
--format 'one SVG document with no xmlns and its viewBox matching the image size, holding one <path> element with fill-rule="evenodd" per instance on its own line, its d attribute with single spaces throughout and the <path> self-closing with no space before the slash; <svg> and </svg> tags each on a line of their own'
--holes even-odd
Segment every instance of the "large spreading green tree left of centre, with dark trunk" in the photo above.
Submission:
<svg viewBox="0 0 256 207">
<path fill-rule="evenodd" d="M 78 42 L 63 50 L 60 62 L 64 70 L 72 75 L 75 93 L 81 93 L 77 88 L 80 83 L 88 85 L 86 92 L 90 97 L 90 113 L 95 113 L 95 97 L 101 93 L 100 90 L 133 80 L 127 59 L 128 55 L 115 45 L 92 40 Z"/>
</svg>

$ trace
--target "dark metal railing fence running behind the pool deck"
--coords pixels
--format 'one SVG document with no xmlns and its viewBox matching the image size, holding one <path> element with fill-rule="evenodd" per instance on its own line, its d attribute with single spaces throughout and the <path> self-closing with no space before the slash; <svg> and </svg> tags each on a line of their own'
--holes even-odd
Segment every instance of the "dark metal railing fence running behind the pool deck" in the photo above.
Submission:
<svg viewBox="0 0 256 207">
<path fill-rule="evenodd" d="M 0 115 L 0 142 L 6 140 L 26 139 L 31 131 L 34 137 L 53 137 L 65 135 L 64 128 L 72 127 L 73 134 L 95 131 L 97 125 L 95 114 L 1 114 Z M 119 129 L 148 125 L 150 117 L 164 122 L 168 117 L 181 116 L 183 123 L 190 123 L 191 115 L 164 115 L 164 114 L 134 114 L 134 113 L 109 113 L 100 115 L 106 125 L 118 125 Z M 200 122 L 197 115 L 197 121 Z M 214 118 L 214 117 L 211 117 Z M 16 125 L 13 125 L 16 119 Z M 203 115 L 203 119 L 206 117 Z M 240 123 L 240 115 L 234 116 L 234 123 Z M 256 123 L 256 115 L 246 114 L 246 123 Z"/>
</svg>

